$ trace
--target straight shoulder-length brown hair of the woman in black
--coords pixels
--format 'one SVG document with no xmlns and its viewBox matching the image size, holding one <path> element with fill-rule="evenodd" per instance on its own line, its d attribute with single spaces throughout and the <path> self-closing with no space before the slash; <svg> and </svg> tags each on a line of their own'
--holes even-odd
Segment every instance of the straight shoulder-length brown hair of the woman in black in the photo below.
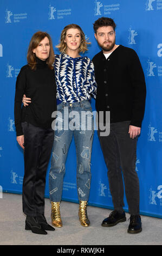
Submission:
<svg viewBox="0 0 162 256">
<path fill-rule="evenodd" d="M 50 44 L 50 51 L 49 51 L 49 57 L 46 60 L 46 63 L 49 66 L 49 69 L 53 69 L 53 63 L 55 60 L 55 54 L 54 54 L 54 49 L 53 49 L 53 44 L 52 44 L 52 40 L 51 37 L 48 33 L 46 32 L 42 32 L 42 31 L 38 31 L 36 32 L 31 40 L 30 40 L 30 44 L 29 44 L 29 48 L 28 48 L 28 53 L 27 53 L 27 61 L 28 61 L 28 65 L 30 66 L 31 69 L 35 70 L 36 69 L 36 55 L 33 52 L 33 50 L 38 46 L 38 44 L 40 44 L 40 42 L 44 39 L 44 38 L 49 39 L 49 44 Z"/>
</svg>

